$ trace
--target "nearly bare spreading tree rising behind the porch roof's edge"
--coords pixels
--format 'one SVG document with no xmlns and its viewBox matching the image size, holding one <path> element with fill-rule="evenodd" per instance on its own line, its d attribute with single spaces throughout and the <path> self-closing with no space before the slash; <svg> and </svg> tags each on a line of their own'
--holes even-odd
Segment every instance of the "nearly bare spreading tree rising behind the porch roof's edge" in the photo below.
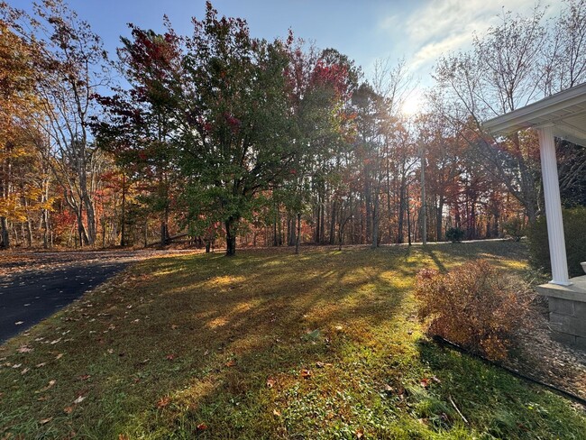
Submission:
<svg viewBox="0 0 586 440">
<path fill-rule="evenodd" d="M 452 100 L 450 120 L 462 139 L 476 151 L 480 163 L 525 206 L 531 222 L 538 213 L 539 162 L 536 145 L 512 135 L 496 142 L 481 128 L 482 121 L 511 112 L 538 95 L 535 66 L 545 41 L 543 12 L 531 17 L 504 13 L 502 23 L 473 50 L 439 60 L 435 78 Z"/>
</svg>

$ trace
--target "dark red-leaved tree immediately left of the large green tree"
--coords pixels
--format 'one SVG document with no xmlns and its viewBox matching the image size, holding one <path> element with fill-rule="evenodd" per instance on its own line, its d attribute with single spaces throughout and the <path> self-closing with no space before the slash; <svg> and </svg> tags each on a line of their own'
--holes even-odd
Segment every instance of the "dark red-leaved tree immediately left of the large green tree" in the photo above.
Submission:
<svg viewBox="0 0 586 440">
<path fill-rule="evenodd" d="M 114 155 L 129 179 L 123 194 L 127 185 L 140 183 L 146 192 L 142 199 L 160 215 L 161 245 L 169 241 L 171 198 L 179 179 L 173 142 L 180 133 L 175 122 L 181 50 L 179 37 L 166 24 L 164 34 L 130 25 L 133 39 L 123 38 L 118 50 L 130 88 L 116 87 L 114 96 L 98 96 L 105 115 L 92 124 L 102 149 Z"/>
</svg>

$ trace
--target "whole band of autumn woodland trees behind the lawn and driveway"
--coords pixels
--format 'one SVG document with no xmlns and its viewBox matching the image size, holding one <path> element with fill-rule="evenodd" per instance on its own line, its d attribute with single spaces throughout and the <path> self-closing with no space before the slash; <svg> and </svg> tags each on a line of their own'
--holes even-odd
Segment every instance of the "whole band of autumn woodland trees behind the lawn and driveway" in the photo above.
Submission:
<svg viewBox="0 0 586 440">
<path fill-rule="evenodd" d="M 471 35 L 437 60 L 417 115 L 402 112 L 417 86 L 404 60 L 365 78 L 209 3 L 191 35 L 130 25 L 115 56 L 61 0 L 0 11 L 5 249 L 501 237 L 543 214 L 539 148 L 482 121 L 586 81 L 580 0 Z M 585 149 L 557 148 L 563 203 L 586 205 Z"/>
</svg>

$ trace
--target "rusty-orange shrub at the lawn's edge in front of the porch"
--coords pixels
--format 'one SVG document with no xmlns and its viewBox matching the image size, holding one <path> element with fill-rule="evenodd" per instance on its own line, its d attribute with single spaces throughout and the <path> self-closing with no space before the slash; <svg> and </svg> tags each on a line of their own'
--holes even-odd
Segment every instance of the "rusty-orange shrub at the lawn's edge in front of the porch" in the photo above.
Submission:
<svg viewBox="0 0 586 440">
<path fill-rule="evenodd" d="M 485 260 L 448 273 L 424 269 L 417 274 L 418 316 L 428 335 L 442 336 L 489 359 L 503 359 L 529 309 L 529 296 L 515 285 Z"/>
</svg>

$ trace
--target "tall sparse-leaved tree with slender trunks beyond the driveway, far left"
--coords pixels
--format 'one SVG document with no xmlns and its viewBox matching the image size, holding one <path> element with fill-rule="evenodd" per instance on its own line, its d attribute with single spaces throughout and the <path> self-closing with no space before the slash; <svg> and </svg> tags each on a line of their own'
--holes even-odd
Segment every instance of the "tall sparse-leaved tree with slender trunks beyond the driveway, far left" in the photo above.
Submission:
<svg viewBox="0 0 586 440">
<path fill-rule="evenodd" d="M 96 240 L 94 193 L 102 165 L 89 122 L 94 94 L 108 83 L 107 54 L 89 23 L 62 0 L 33 5 L 33 16 L 4 5 L 11 29 L 35 48 L 35 92 L 42 113 L 37 125 L 50 142 L 44 158 L 74 211 L 80 243 Z"/>
</svg>

